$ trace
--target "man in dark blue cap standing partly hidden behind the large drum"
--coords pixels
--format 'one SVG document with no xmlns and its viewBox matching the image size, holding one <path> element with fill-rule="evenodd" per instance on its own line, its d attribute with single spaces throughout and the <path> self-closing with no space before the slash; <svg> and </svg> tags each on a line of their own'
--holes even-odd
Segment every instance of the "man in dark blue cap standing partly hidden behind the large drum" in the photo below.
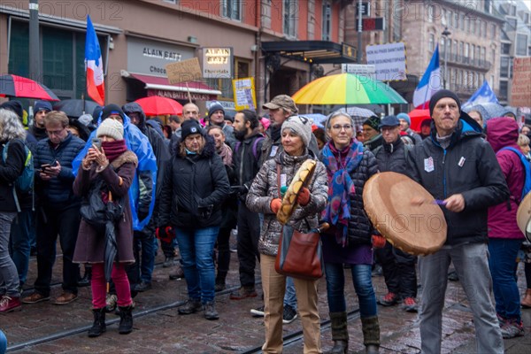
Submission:
<svg viewBox="0 0 531 354">
<path fill-rule="evenodd" d="M 411 147 L 405 145 L 400 138 L 400 121 L 396 116 L 387 116 L 381 119 L 379 128 L 383 143 L 376 154 L 378 170 L 407 174 L 407 155 L 411 152 Z M 376 255 L 388 288 L 387 295 L 378 302 L 383 306 L 391 306 L 403 301 L 404 311 L 417 312 L 417 258 L 393 247 L 389 242 L 376 249 Z"/>
</svg>

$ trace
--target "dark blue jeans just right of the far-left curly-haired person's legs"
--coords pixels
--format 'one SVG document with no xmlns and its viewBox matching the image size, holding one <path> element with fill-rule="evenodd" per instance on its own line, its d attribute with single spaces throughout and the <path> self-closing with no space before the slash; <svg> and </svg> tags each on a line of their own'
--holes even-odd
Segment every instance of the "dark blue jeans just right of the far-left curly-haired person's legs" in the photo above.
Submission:
<svg viewBox="0 0 531 354">
<path fill-rule="evenodd" d="M 31 209 L 24 209 L 17 214 L 12 222 L 11 240 L 9 242 L 9 253 L 12 255 L 13 263 L 19 272 L 20 284 L 24 284 L 27 279 L 27 267 L 29 266 L 29 252 L 31 250 L 31 227 L 34 224 L 34 212 Z"/>
</svg>

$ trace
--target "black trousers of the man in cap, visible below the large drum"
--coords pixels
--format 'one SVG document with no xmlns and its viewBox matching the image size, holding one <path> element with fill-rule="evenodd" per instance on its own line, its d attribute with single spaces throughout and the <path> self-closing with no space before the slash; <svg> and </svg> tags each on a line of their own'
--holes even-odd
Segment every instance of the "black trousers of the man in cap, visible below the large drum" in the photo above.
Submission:
<svg viewBox="0 0 531 354">
<path fill-rule="evenodd" d="M 389 242 L 376 250 L 389 292 L 402 298 L 417 296 L 417 257 L 393 247 Z"/>
</svg>

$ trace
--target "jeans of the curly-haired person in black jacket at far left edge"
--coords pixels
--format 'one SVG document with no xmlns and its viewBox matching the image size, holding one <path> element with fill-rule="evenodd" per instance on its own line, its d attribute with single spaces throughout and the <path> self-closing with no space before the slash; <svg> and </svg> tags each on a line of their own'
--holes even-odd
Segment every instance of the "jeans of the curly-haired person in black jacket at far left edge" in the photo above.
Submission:
<svg viewBox="0 0 531 354">
<path fill-rule="evenodd" d="M 0 284 L 5 295 L 19 297 L 19 274 L 9 255 L 9 234 L 16 212 L 0 212 Z"/>
</svg>

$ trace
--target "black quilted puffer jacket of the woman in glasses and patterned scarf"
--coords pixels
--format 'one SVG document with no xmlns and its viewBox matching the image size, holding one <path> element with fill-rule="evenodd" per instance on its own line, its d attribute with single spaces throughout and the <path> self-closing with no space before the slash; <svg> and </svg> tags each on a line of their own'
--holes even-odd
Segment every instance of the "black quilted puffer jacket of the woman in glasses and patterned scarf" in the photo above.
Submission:
<svg viewBox="0 0 531 354">
<path fill-rule="evenodd" d="M 323 160 L 322 155 L 320 156 Z M 350 178 L 354 182 L 356 193 L 350 196 L 350 220 L 349 220 L 349 244 L 371 243 L 371 235 L 373 235 L 373 224 L 367 217 L 363 204 L 363 189 L 366 181 L 378 173 L 378 164 L 373 153 L 364 149 L 363 158 L 358 165 L 358 168 L 350 173 Z M 330 181 L 328 181 L 330 184 Z"/>
</svg>

